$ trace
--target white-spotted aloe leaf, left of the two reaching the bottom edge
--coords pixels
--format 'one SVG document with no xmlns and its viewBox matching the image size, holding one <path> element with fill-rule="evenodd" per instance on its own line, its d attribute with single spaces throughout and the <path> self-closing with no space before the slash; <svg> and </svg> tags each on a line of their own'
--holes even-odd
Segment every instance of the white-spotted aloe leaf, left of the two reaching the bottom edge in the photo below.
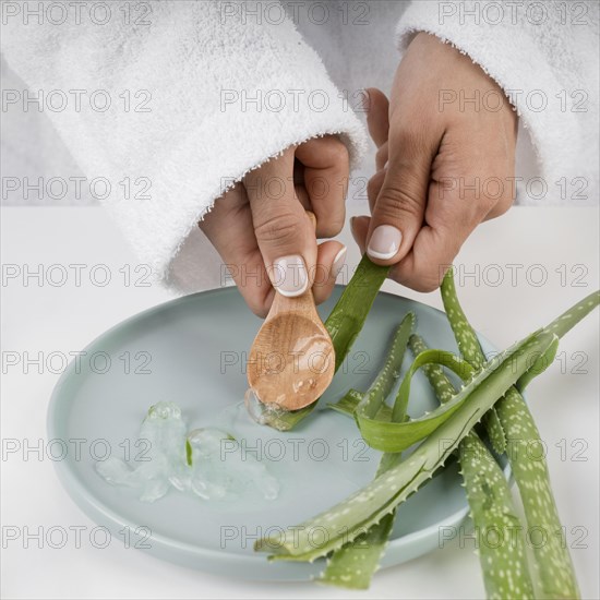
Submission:
<svg viewBox="0 0 600 600">
<path fill-rule="evenodd" d="M 409 346 L 415 355 L 428 349 L 417 335 L 410 336 Z M 551 348 L 556 351 L 555 344 Z M 441 403 L 456 394 L 441 367 L 427 365 L 423 372 Z M 504 472 L 475 431 L 458 452 L 488 598 L 532 598 L 523 527 Z"/>
</svg>

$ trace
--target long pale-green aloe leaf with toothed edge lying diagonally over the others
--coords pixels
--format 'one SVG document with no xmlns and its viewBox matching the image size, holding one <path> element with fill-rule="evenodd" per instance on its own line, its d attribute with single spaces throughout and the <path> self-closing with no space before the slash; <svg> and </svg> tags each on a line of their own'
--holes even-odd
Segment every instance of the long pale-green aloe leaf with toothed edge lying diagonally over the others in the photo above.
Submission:
<svg viewBox="0 0 600 600">
<path fill-rule="evenodd" d="M 283 539 L 257 540 L 255 550 L 271 552 L 273 560 L 312 561 L 356 539 L 433 477 L 484 412 L 527 370 L 527 356 L 544 351 L 552 340 L 552 334 L 537 332 L 495 357 L 456 395 L 468 397 L 468 401 L 406 460 L 333 508 L 289 528 Z"/>
</svg>

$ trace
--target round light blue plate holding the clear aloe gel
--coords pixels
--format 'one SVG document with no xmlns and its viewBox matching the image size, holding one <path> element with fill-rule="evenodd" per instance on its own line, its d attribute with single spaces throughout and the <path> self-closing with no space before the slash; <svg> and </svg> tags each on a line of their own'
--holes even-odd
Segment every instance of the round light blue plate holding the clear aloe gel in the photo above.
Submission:
<svg viewBox="0 0 600 600">
<path fill-rule="evenodd" d="M 320 312 L 326 316 L 343 288 Z M 160 304 L 115 326 L 72 362 L 57 384 L 48 412 L 50 440 L 69 452 L 56 463 L 75 503 L 116 539 L 155 556 L 197 569 L 248 579 L 305 580 L 323 562 L 275 562 L 254 553 L 257 537 L 283 530 L 344 500 L 373 477 L 380 454 L 367 447 L 353 420 L 325 408 L 348 388 L 364 389 L 381 367 L 393 328 L 408 311 L 431 347 L 456 351 L 445 315 L 431 307 L 380 293 L 348 359 L 315 411 L 291 432 L 252 422 L 240 406 L 247 389 L 243 365 L 261 321 L 236 288 L 195 293 Z M 483 349 L 494 348 L 482 340 Z M 404 368 L 410 361 L 409 352 Z M 110 362 L 110 364 L 109 364 Z M 107 365 L 109 364 L 108 369 Z M 148 407 L 181 406 L 190 429 L 216 425 L 256 448 L 281 492 L 275 501 L 206 503 L 171 490 L 154 504 L 108 485 L 96 459 L 112 453 L 143 457 L 135 446 Z M 413 416 L 436 406 L 418 374 Z M 76 442 L 79 440 L 79 442 Z M 80 453 L 75 453 L 79 447 Z M 108 454 L 107 454 L 108 453 Z M 456 463 L 403 504 L 382 566 L 397 565 L 437 548 L 467 516 Z"/>
</svg>

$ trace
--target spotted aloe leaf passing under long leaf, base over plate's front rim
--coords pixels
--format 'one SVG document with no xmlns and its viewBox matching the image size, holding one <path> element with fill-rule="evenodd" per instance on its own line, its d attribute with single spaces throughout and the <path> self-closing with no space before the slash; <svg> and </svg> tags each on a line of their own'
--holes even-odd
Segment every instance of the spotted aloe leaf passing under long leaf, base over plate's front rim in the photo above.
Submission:
<svg viewBox="0 0 600 600">
<path fill-rule="evenodd" d="M 384 406 L 385 398 L 392 392 L 394 383 L 400 374 L 404 355 L 408 338 L 415 326 L 413 313 L 408 313 L 394 333 L 391 348 L 384 365 L 369 389 L 360 395 L 359 405 L 370 415 L 377 415 Z M 392 417 L 392 412 L 389 412 Z M 401 416 L 404 419 L 404 416 Z M 381 459 L 376 477 L 396 464 L 399 457 L 384 455 Z M 394 526 L 395 511 L 385 515 L 379 523 L 369 528 L 356 540 L 343 545 L 333 552 L 327 560 L 327 567 L 319 578 L 322 584 L 345 587 L 348 589 L 368 589 L 371 579 L 387 544 L 392 527 Z"/>
</svg>

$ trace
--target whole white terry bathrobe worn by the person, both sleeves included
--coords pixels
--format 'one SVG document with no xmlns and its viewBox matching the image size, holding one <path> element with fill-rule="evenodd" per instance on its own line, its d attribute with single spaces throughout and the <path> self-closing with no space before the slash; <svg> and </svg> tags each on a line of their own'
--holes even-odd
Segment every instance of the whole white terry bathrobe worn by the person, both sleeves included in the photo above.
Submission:
<svg viewBox="0 0 600 600">
<path fill-rule="evenodd" d="M 365 203 L 360 89 L 388 93 L 424 31 L 468 53 L 516 106 L 517 202 L 598 202 L 597 2 L 283 4 L 2 2 L 3 201 L 63 200 L 52 176 L 72 199 L 83 173 L 161 280 L 218 285 L 199 220 L 289 145 L 339 134 L 355 169 L 348 202 Z M 27 185 L 44 172 L 43 191 L 25 194 L 23 177 L 10 179 L 20 168 Z"/>
</svg>

